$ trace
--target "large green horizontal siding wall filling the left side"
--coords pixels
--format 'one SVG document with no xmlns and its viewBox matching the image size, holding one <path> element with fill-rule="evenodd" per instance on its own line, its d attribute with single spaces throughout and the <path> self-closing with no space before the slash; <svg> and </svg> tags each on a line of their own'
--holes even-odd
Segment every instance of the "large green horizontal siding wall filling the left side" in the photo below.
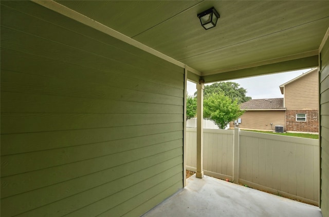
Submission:
<svg viewBox="0 0 329 217">
<path fill-rule="evenodd" d="M 138 216 L 183 187 L 184 69 L 1 1 L 1 216 Z"/>
</svg>

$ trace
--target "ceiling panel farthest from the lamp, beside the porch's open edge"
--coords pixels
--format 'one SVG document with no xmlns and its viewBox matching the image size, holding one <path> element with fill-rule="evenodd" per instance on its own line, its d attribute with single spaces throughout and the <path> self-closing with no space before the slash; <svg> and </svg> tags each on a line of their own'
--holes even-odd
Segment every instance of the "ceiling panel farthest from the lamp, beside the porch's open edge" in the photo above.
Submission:
<svg viewBox="0 0 329 217">
<path fill-rule="evenodd" d="M 317 50 L 325 34 L 322 26 L 327 23 L 329 17 L 317 21 L 317 25 L 306 24 L 309 31 L 303 33 L 300 32 L 305 27 L 296 27 L 296 30 L 272 33 L 179 61 L 196 70 L 208 72 Z"/>
</svg>

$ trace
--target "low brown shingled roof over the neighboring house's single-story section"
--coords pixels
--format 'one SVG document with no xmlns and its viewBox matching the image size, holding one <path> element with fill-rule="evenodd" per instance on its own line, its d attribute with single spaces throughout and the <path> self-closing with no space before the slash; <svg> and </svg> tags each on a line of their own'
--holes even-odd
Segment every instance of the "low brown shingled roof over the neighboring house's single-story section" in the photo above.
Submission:
<svg viewBox="0 0 329 217">
<path fill-rule="evenodd" d="M 285 110 L 283 98 L 260 98 L 240 104 L 243 110 Z"/>
</svg>

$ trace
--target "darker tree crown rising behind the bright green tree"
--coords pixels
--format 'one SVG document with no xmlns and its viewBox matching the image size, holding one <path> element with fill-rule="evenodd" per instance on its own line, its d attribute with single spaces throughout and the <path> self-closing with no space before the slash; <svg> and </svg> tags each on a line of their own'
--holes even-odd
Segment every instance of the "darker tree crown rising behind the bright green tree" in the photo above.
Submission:
<svg viewBox="0 0 329 217">
<path fill-rule="evenodd" d="M 206 85 L 204 90 L 204 97 L 206 98 L 211 93 L 224 93 L 232 99 L 237 101 L 237 104 L 241 104 L 251 100 L 250 96 L 246 96 L 247 90 L 240 87 L 240 84 L 235 82 L 218 82 L 211 85 Z M 196 92 L 194 93 L 196 95 Z"/>
</svg>

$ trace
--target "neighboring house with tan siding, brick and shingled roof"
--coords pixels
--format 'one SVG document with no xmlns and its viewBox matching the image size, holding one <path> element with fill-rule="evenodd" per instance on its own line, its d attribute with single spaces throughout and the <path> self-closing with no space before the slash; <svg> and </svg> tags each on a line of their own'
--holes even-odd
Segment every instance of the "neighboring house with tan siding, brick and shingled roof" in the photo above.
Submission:
<svg viewBox="0 0 329 217">
<path fill-rule="evenodd" d="M 250 100 L 240 108 L 246 112 L 241 116 L 241 129 L 319 132 L 318 69 L 312 69 L 293 80 L 280 85 L 284 98 Z M 230 128 L 234 123 L 230 123 Z"/>
</svg>

